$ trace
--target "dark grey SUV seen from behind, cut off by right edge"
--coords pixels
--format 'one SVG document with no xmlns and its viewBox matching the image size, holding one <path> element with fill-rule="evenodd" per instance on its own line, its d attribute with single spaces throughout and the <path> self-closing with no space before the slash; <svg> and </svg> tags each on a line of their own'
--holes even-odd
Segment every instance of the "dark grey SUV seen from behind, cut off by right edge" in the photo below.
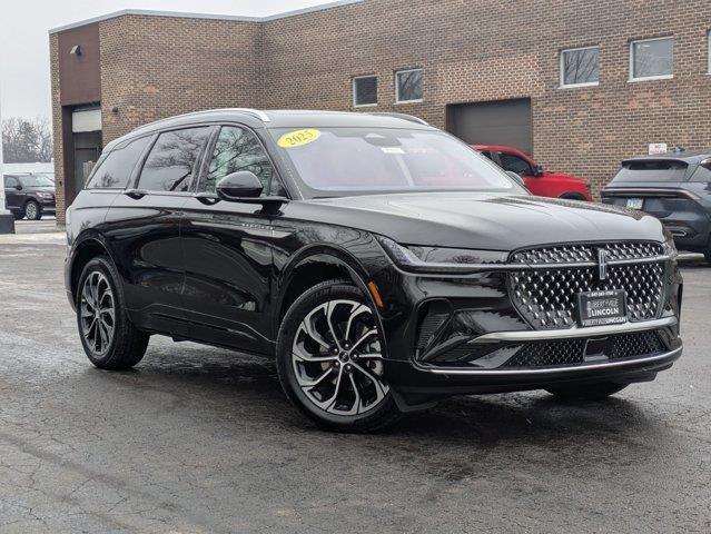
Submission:
<svg viewBox="0 0 711 534">
<path fill-rule="evenodd" d="M 653 215 L 677 247 L 711 263 L 711 150 L 641 156 L 622 161 L 602 201 Z"/>
</svg>

